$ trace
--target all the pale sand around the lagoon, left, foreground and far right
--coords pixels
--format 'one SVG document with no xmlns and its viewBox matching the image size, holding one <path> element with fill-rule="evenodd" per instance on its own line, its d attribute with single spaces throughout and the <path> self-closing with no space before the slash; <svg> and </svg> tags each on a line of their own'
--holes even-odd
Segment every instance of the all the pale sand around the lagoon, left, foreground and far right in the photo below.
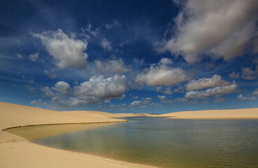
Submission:
<svg viewBox="0 0 258 168">
<path fill-rule="evenodd" d="M 78 153 L 34 144 L 6 130 L 40 125 L 124 123 L 127 117 L 166 117 L 168 119 L 246 120 L 258 119 L 258 109 L 213 111 L 182 111 L 150 115 L 145 113 L 105 113 L 100 111 L 50 111 L 29 106 L 0 102 L 0 167 L 154 167 L 106 158 L 89 153 Z"/>
</svg>

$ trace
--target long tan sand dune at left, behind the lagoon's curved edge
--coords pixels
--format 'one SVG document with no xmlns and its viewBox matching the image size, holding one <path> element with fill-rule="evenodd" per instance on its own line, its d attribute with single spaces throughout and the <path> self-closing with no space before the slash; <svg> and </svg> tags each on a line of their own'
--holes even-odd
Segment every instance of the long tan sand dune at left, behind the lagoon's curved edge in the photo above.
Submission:
<svg viewBox="0 0 258 168">
<path fill-rule="evenodd" d="M 0 130 L 24 125 L 45 125 L 55 123 L 101 123 L 119 122 L 120 119 L 109 118 L 103 112 L 76 111 L 61 112 L 38 109 L 0 102 Z"/>
</svg>

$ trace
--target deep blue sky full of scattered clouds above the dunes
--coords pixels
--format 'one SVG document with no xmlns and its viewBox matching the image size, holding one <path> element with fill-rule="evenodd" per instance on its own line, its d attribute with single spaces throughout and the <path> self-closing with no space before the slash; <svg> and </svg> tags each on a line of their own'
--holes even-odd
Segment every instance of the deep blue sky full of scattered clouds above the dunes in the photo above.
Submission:
<svg viewBox="0 0 258 168">
<path fill-rule="evenodd" d="M 257 1 L 0 1 L 0 101 L 57 111 L 258 107 Z"/>
</svg>

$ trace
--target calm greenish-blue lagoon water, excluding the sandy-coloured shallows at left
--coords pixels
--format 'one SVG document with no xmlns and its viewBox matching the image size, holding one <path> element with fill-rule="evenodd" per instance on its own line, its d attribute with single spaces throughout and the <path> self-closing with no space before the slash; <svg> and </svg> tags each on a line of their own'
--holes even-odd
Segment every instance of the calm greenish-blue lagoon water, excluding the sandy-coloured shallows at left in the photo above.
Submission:
<svg viewBox="0 0 258 168">
<path fill-rule="evenodd" d="M 126 119 L 33 141 L 159 167 L 258 167 L 258 120 Z"/>
</svg>

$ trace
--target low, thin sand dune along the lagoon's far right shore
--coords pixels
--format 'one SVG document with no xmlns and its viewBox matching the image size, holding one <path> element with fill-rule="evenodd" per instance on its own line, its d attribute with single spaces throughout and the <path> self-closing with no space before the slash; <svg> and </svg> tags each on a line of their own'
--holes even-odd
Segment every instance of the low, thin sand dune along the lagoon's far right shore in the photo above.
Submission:
<svg viewBox="0 0 258 168">
<path fill-rule="evenodd" d="M 182 111 L 157 115 L 175 119 L 258 119 L 258 108 L 208 111 Z"/>
</svg>

